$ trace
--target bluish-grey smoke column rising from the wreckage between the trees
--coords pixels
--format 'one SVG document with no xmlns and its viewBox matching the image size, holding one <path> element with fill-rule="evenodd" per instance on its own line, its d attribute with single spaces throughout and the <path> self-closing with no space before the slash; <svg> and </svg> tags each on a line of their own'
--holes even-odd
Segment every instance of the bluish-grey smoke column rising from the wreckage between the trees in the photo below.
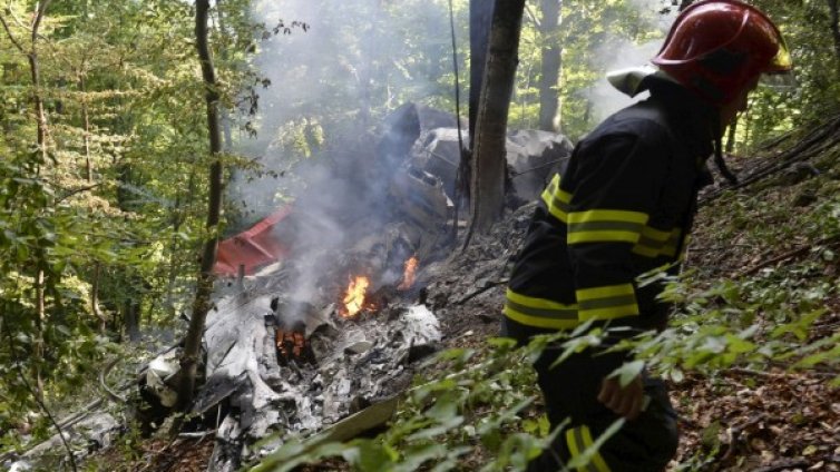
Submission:
<svg viewBox="0 0 840 472">
<path fill-rule="evenodd" d="M 237 171 L 228 186 L 244 215 L 228 233 L 292 205 L 273 234 L 290 248 L 282 289 L 299 302 L 335 299 L 353 264 L 345 255 L 364 236 L 381 238 L 393 215 L 388 185 L 401 159 L 379 155 L 375 127 L 403 102 L 439 107 L 452 95 L 441 81 L 451 73 L 447 3 L 262 0 L 253 17 L 289 33 L 260 43 L 255 65 L 270 86 L 258 90 L 257 137 L 241 149 L 258 171 Z M 299 319 L 304 304 L 286 306 L 286 322 Z"/>
</svg>

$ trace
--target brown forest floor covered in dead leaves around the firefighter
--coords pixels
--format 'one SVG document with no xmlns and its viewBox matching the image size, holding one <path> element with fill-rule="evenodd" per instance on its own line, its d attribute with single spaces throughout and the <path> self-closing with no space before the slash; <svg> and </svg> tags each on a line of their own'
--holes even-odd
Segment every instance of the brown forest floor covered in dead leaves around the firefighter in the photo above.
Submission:
<svg viewBox="0 0 840 472">
<path fill-rule="evenodd" d="M 805 296 L 819 298 L 822 314 L 802 340 L 809 343 L 830 338 L 840 328 L 837 288 L 818 289 L 826 283 L 838 285 L 833 250 L 840 233 L 827 234 L 820 226 L 826 223 L 820 212 L 827 205 L 834 205 L 830 215 L 840 217 L 840 153 L 838 139 L 832 139 L 829 144 L 821 140 L 819 153 L 800 163 L 810 166 L 800 169 L 800 175 L 779 170 L 735 191 L 706 191 L 686 264 L 686 269 L 694 271 L 697 287 L 732 281 L 740 284 L 742 293 L 811 291 Z M 740 175 L 758 175 L 780 155 L 784 153 L 765 149 L 761 157 L 732 161 Z M 487 338 L 498 335 L 509 265 L 533 205 L 527 205 L 509 214 L 466 250 L 426 268 L 426 303 L 441 322 L 446 347 L 480 350 Z M 814 223 L 814 218 L 820 220 Z M 819 228 L 804 230 L 811 223 Z M 722 298 L 725 307 L 729 298 Z M 797 313 L 793 303 L 787 308 L 782 304 L 784 309 L 788 315 Z M 776 323 L 772 313 L 759 309 L 754 323 L 772 330 Z M 726 316 L 726 309 L 721 316 Z M 682 434 L 671 469 L 840 471 L 840 390 L 832 386 L 837 365 L 804 371 L 789 367 L 784 362 L 735 364 L 687 372 L 678 382 L 670 381 Z M 540 405 L 534 409 L 538 412 Z M 95 462 L 109 463 L 114 471 L 203 471 L 213 441 L 152 440 L 140 444 L 131 458 L 113 448 Z M 326 463 L 319 468 L 336 469 L 345 468 Z"/>
</svg>

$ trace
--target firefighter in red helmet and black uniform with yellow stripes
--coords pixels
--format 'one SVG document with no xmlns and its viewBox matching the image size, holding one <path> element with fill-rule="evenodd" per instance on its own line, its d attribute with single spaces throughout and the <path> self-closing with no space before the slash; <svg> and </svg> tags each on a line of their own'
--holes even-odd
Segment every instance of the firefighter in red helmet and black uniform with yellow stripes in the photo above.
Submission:
<svg viewBox="0 0 840 472">
<path fill-rule="evenodd" d="M 711 183 L 706 159 L 715 155 L 734 178 L 721 157 L 725 126 L 762 73 L 791 69 L 779 29 L 736 0 L 682 11 L 652 63 L 608 77 L 649 97 L 580 140 L 541 195 L 504 308 L 502 332 L 521 343 L 585 323 L 608 330 L 606 345 L 664 327 L 662 286 L 637 277 L 678 264 L 697 191 Z M 628 360 L 623 353 L 589 348 L 553 366 L 559 352 L 547 348 L 535 368 L 551 425 L 563 431 L 529 470 L 563 469 L 618 419 L 621 430 L 580 470 L 663 470 L 677 446 L 663 382 L 643 371 L 622 386 L 611 373 Z"/>
</svg>

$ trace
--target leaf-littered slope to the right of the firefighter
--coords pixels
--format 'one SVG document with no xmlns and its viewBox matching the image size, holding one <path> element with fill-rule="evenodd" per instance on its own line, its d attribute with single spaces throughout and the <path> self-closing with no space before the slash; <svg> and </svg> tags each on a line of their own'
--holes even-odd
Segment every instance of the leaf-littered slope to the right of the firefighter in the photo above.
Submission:
<svg viewBox="0 0 840 472">
<path fill-rule="evenodd" d="M 839 139 L 837 120 L 831 120 L 791 148 L 735 160 L 746 176 L 790 163 L 750 186 L 720 198 L 709 198 L 712 191 L 704 200 L 687 266 L 701 284 L 732 281 L 739 294 L 726 299 L 732 305 L 755 304 L 759 338 L 815 312 L 800 341 L 837 338 Z M 836 382 L 832 386 L 840 374 L 837 361 L 790 371 L 797 361 L 692 375 L 674 385 L 684 426 L 681 462 L 744 471 L 840 470 L 840 390 Z"/>
</svg>

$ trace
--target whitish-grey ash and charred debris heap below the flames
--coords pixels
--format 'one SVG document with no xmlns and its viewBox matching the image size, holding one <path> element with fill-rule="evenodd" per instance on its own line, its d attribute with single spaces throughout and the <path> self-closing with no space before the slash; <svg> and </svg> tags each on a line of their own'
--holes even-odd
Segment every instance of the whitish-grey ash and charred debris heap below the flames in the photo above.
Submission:
<svg viewBox="0 0 840 472">
<path fill-rule="evenodd" d="M 207 319 L 207 382 L 195 413 L 227 413 L 216 432 L 212 470 L 236 470 L 243 460 L 271 452 L 257 440 L 307 435 L 404 390 L 412 364 L 441 341 L 438 318 L 424 305 L 402 301 L 354 319 L 333 303 L 312 304 L 277 295 L 284 274 L 257 277 L 216 303 Z M 282 362 L 277 326 L 302 324 L 315 364 Z"/>
</svg>

